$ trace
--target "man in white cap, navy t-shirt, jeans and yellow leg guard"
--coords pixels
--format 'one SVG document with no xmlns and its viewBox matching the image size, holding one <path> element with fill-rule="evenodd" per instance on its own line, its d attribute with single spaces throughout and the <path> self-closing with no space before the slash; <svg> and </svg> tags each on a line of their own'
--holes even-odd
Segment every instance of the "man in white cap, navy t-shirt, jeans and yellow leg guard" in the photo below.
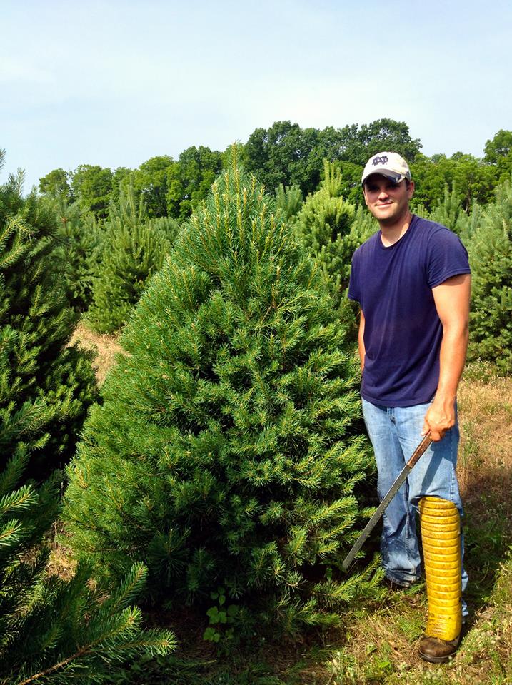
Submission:
<svg viewBox="0 0 512 685">
<path fill-rule="evenodd" d="M 468 253 L 448 228 L 409 210 L 414 181 L 396 153 L 373 155 L 363 193 L 380 230 L 353 255 L 348 297 L 361 306 L 361 397 L 384 496 L 421 437 L 432 444 L 383 517 L 382 559 L 392 587 L 418 579 L 420 512 L 428 622 L 420 656 L 448 661 L 461 637 L 462 567 L 456 479 L 456 392 L 466 359 Z"/>
</svg>

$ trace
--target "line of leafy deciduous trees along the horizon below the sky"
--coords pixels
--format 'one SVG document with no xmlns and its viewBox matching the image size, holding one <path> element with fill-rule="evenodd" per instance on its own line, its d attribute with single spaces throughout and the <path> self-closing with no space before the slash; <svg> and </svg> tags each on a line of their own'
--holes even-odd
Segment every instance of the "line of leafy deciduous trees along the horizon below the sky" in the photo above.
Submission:
<svg viewBox="0 0 512 685">
<path fill-rule="evenodd" d="M 421 153 L 418 138 L 411 138 L 406 123 L 383 118 L 369 124 L 343 128 L 328 126 L 301 128 L 290 121 L 276 121 L 269 128 L 256 128 L 246 143 L 239 145 L 244 168 L 254 173 L 268 192 L 282 185 L 298 186 L 303 197 L 313 193 L 321 181 L 323 159 L 336 163 L 344 179 L 343 195 L 358 205 L 361 171 L 373 153 L 393 150 L 411 166 L 416 181 L 417 205 L 431 210 L 443 198 L 444 188 L 457 188 L 465 210 L 473 202 L 486 204 L 493 188 L 510 176 L 512 132 L 498 131 L 488 140 L 483 156 L 456 152 L 451 157 Z M 54 169 L 39 181 L 39 191 L 78 200 L 81 208 L 104 218 L 111 201 L 119 199 L 121 188 L 132 186 L 136 199 L 146 203 L 151 218 L 168 216 L 182 220 L 203 200 L 221 172 L 229 152 L 191 146 L 178 157 L 155 156 L 136 169 L 102 168 L 81 164 L 74 171 Z"/>
</svg>

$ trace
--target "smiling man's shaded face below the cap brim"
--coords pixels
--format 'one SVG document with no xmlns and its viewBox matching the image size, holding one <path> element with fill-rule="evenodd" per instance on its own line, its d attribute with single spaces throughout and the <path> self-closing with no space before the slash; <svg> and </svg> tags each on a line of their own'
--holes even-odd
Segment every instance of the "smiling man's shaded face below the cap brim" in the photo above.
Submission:
<svg viewBox="0 0 512 685">
<path fill-rule="evenodd" d="M 364 201 L 378 223 L 393 225 L 405 218 L 409 209 L 409 200 L 414 193 L 414 182 L 405 179 L 393 183 L 391 178 L 373 173 L 364 182 Z"/>
</svg>

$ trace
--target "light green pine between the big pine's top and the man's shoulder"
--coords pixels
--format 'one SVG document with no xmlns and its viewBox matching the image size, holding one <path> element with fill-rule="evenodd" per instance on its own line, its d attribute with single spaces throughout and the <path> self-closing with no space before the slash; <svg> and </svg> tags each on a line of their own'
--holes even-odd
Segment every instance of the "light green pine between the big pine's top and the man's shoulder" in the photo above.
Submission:
<svg viewBox="0 0 512 685">
<path fill-rule="evenodd" d="M 306 198 L 297 215 L 296 230 L 308 253 L 321 265 L 338 315 L 354 338 L 356 308 L 346 294 L 351 259 L 376 226 L 365 209 L 358 208 L 356 212 L 353 205 L 343 200 L 343 187 L 339 168 L 324 161 L 323 181 L 318 191 Z"/>
</svg>

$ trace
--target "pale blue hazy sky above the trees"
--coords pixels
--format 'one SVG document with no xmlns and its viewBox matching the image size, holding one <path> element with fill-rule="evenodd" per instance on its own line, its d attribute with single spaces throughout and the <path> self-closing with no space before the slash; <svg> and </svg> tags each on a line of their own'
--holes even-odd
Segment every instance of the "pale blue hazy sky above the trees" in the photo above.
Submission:
<svg viewBox="0 0 512 685">
<path fill-rule="evenodd" d="M 54 168 L 224 150 L 289 119 L 406 121 L 427 155 L 512 130 L 512 3 L 1 0 L 0 148 Z"/>
</svg>

